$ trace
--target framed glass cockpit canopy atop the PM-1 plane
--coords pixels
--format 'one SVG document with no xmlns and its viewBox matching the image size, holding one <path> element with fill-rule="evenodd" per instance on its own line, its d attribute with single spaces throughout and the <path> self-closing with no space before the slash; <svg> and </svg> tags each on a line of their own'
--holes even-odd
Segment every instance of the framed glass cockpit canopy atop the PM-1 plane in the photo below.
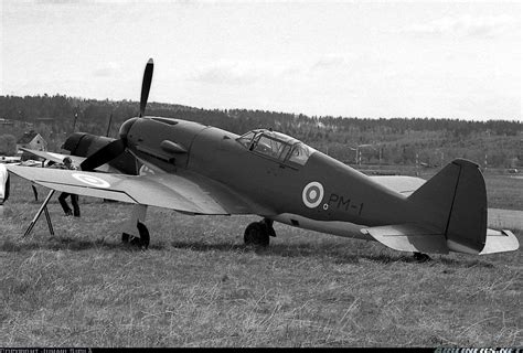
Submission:
<svg viewBox="0 0 523 353">
<path fill-rule="evenodd" d="M 299 165 L 305 165 L 314 151 L 290 136 L 266 129 L 252 130 L 237 138 L 237 141 L 250 151 Z"/>
</svg>

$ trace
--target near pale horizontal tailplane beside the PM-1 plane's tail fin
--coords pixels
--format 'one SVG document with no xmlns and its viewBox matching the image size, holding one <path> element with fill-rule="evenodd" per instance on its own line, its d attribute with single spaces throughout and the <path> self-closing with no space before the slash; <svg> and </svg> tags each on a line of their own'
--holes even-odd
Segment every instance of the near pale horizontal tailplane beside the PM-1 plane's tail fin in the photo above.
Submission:
<svg viewBox="0 0 523 353">
<path fill-rule="evenodd" d="M 399 252 L 448 254 L 445 234 L 417 224 L 393 224 L 361 231 L 377 242 Z"/>
</svg>

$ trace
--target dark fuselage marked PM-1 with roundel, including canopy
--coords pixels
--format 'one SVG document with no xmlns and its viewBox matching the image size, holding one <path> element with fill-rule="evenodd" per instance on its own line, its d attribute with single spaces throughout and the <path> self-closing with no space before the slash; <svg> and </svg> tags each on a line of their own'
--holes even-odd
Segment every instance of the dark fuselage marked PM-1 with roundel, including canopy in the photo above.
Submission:
<svg viewBox="0 0 523 353">
<path fill-rule="evenodd" d="M 239 137 L 157 117 L 134 118 L 125 129 L 128 149 L 146 165 L 222 183 L 274 221 L 366 238 L 362 226 L 409 223 L 418 213 L 404 195 L 282 133 Z"/>
</svg>

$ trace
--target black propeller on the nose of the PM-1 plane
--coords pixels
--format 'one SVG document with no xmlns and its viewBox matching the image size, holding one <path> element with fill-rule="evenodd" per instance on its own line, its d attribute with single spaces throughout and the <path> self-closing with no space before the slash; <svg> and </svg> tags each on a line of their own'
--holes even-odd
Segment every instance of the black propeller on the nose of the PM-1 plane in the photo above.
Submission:
<svg viewBox="0 0 523 353">
<path fill-rule="evenodd" d="M 149 89 L 151 88 L 152 81 L 152 71 L 153 71 L 152 58 L 149 58 L 143 72 L 143 81 L 141 83 L 141 96 L 140 96 L 140 117 L 146 114 L 147 99 L 149 98 Z M 114 140 L 113 142 L 104 146 L 89 157 L 87 157 L 81 164 L 79 168 L 84 171 L 92 171 L 102 164 L 110 162 L 121 153 L 126 151 L 127 148 L 127 133 L 130 130 L 130 127 L 138 120 L 138 118 L 131 118 L 126 120 L 120 127 L 120 138 Z"/>
</svg>

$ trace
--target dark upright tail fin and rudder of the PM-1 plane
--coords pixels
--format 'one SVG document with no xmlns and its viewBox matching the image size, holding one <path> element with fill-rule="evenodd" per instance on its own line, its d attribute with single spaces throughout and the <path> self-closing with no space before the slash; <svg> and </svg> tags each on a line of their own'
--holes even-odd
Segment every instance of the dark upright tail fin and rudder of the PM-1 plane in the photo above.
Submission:
<svg viewBox="0 0 523 353">
<path fill-rule="evenodd" d="M 450 250 L 479 254 L 487 238 L 487 190 L 478 164 L 456 159 L 408 200 L 421 222 L 440 229 Z"/>
</svg>

